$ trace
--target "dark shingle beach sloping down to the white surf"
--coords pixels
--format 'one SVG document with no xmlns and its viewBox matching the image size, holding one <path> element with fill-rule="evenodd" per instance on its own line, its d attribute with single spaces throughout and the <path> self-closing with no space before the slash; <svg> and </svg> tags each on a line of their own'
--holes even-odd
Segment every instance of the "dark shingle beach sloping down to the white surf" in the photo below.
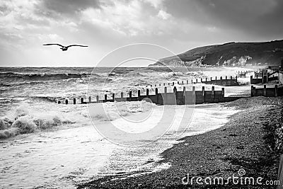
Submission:
<svg viewBox="0 0 283 189">
<path fill-rule="evenodd" d="M 231 115 L 229 122 L 224 126 L 179 139 L 182 142 L 163 151 L 161 153 L 163 159 L 158 163 L 169 163 L 170 168 L 125 179 L 106 176 L 77 186 L 78 188 L 209 188 L 212 185 L 196 185 L 196 183 L 183 185 L 182 178 L 187 176 L 187 173 L 202 178 L 207 176 L 227 178 L 237 174 L 240 168 L 245 169 L 246 176 L 276 180 L 279 154 L 268 147 L 267 139 L 264 139 L 266 133 L 264 127 L 267 122 L 279 118 L 279 110 L 282 110 L 281 102 L 280 97 L 254 97 L 222 103 L 225 107 L 234 107 L 242 111 Z M 221 185 L 221 188 L 224 186 L 233 188 L 237 185 Z M 241 188 L 250 188 L 250 185 L 241 185 Z"/>
</svg>

